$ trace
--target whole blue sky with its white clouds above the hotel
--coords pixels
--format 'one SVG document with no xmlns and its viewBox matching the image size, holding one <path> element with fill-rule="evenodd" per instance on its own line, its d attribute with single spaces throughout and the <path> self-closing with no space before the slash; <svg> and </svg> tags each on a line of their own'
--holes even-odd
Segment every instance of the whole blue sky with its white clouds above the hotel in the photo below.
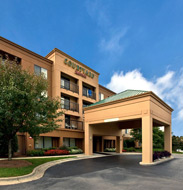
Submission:
<svg viewBox="0 0 183 190">
<path fill-rule="evenodd" d="M 115 92 L 152 90 L 183 135 L 182 0 L 0 0 L 0 35 L 42 56 L 57 47 Z M 3 6 L 2 6 L 3 5 Z"/>
</svg>

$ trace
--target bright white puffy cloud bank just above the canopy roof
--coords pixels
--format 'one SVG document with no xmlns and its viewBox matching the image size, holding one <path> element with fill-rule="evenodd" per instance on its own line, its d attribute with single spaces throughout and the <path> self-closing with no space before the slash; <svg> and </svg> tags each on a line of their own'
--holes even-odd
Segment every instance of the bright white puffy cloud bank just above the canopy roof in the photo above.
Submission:
<svg viewBox="0 0 183 190">
<path fill-rule="evenodd" d="M 183 121 L 183 69 L 176 73 L 168 71 L 155 80 L 146 79 L 137 69 L 127 73 L 116 72 L 106 87 L 117 93 L 127 89 L 153 91 L 171 104 L 177 113 L 176 119 Z"/>
</svg>

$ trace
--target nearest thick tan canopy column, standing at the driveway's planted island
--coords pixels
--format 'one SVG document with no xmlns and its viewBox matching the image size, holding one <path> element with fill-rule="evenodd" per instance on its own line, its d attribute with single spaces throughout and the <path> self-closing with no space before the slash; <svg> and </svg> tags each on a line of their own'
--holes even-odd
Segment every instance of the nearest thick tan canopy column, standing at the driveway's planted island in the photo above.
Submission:
<svg viewBox="0 0 183 190">
<path fill-rule="evenodd" d="M 153 162 L 153 120 L 151 116 L 142 118 L 142 162 L 150 164 Z"/>
</svg>

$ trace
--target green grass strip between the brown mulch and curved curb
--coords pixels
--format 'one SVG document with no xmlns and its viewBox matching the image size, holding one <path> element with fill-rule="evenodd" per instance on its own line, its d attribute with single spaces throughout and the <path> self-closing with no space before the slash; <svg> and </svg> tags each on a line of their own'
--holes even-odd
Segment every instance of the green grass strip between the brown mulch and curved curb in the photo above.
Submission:
<svg viewBox="0 0 183 190">
<path fill-rule="evenodd" d="M 31 162 L 32 165 L 20 168 L 0 168 L 0 177 L 15 177 L 29 174 L 33 169 L 41 164 L 46 162 L 61 160 L 66 158 L 75 158 L 76 156 L 68 157 L 52 157 L 52 158 L 34 158 L 34 159 L 25 159 L 28 162 Z"/>
</svg>

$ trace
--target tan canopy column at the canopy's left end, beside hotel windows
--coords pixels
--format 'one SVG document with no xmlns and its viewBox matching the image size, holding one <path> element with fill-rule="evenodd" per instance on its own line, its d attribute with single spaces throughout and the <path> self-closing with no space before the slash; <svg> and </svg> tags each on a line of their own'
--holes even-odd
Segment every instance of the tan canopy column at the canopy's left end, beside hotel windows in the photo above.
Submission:
<svg viewBox="0 0 183 190">
<path fill-rule="evenodd" d="M 93 154 L 93 134 L 91 132 L 91 126 L 85 123 L 85 154 Z"/>
</svg>

